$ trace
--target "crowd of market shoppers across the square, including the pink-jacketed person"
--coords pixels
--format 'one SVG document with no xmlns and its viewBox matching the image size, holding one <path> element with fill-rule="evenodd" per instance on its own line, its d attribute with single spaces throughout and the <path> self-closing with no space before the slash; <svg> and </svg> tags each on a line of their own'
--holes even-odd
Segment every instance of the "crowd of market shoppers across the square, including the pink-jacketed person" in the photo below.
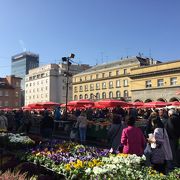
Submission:
<svg viewBox="0 0 180 180">
<path fill-rule="evenodd" d="M 36 121 L 42 137 L 52 136 L 54 122 L 73 121 L 73 129 L 79 132 L 79 140 L 86 142 L 88 121 L 111 121 L 107 133 L 110 152 L 141 156 L 149 148 L 149 160 L 154 169 L 165 173 L 165 168 L 179 166 L 178 146 L 180 138 L 180 111 L 174 109 L 76 109 L 62 111 L 60 107 L 48 111 L 0 111 L 0 131 L 29 133 Z M 146 120 L 146 127 L 135 126 L 137 119 Z"/>
</svg>

